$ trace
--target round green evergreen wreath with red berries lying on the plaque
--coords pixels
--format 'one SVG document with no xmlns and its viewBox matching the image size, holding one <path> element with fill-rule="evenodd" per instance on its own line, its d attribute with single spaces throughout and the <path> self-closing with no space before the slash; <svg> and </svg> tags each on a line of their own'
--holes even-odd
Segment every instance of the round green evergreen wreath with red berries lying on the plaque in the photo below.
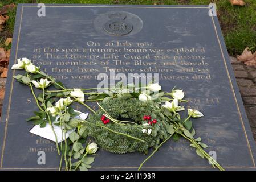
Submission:
<svg viewBox="0 0 256 182">
<path fill-rule="evenodd" d="M 84 125 L 84 135 L 88 135 L 95 139 L 104 150 L 124 154 L 127 152 L 147 152 L 150 147 L 158 146 L 162 140 L 168 137 L 168 123 L 164 115 L 156 109 L 154 102 L 142 102 L 137 98 L 129 100 L 119 100 L 118 98 L 108 97 L 99 105 L 104 108 L 97 110 L 95 114 L 90 114 L 87 122 L 95 125 Z M 103 114 L 108 113 L 113 119 L 123 122 L 116 125 L 114 122 L 109 122 L 107 125 L 101 121 Z M 156 119 L 157 123 L 146 125 L 148 120 L 144 120 L 145 115 L 150 115 L 152 119 Z M 143 125 L 144 124 L 144 125 Z M 98 127 L 99 125 L 105 127 Z M 107 129 L 107 128 L 108 129 Z M 109 129 L 123 134 L 130 135 L 140 140 L 129 138 L 124 135 L 116 135 L 109 132 Z M 142 130 L 150 130 L 151 134 L 143 133 Z"/>
</svg>

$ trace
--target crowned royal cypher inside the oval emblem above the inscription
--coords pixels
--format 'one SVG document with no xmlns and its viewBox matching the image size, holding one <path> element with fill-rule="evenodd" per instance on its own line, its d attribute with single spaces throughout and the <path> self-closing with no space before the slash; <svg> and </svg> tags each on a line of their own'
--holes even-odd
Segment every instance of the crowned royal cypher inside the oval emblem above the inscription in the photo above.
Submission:
<svg viewBox="0 0 256 182">
<path fill-rule="evenodd" d="M 127 35 L 132 31 L 132 23 L 129 23 L 125 18 L 127 15 L 124 13 L 109 14 L 108 17 L 111 19 L 104 24 L 104 30 L 108 34 L 115 36 Z"/>
</svg>

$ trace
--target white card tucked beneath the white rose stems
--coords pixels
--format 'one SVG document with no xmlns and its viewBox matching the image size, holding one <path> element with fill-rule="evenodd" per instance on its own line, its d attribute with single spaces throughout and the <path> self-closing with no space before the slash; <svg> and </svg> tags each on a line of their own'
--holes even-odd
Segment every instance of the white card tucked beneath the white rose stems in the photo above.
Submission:
<svg viewBox="0 0 256 182">
<path fill-rule="evenodd" d="M 84 120 L 88 117 L 88 113 L 82 113 L 78 110 L 74 110 L 74 111 L 79 113 L 79 115 L 74 118 Z M 56 125 L 52 125 L 52 126 L 54 127 L 54 131 L 56 133 L 58 143 L 67 139 L 70 133 L 72 132 L 72 130 L 68 130 L 66 133 L 66 138 L 64 138 L 64 132 L 62 131 L 62 129 L 60 129 L 60 127 Z M 52 132 L 51 125 L 49 123 L 46 123 L 46 127 L 40 127 L 40 125 L 35 125 L 29 132 L 55 142 L 55 135 Z"/>
</svg>

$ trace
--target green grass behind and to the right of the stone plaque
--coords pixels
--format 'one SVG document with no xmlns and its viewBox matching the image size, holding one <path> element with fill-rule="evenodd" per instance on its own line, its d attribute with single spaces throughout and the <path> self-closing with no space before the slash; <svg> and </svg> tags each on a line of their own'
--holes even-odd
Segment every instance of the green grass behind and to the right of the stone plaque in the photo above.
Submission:
<svg viewBox="0 0 256 182">
<path fill-rule="evenodd" d="M 230 55 L 241 54 L 243 49 L 249 47 L 256 51 L 256 1 L 244 0 L 245 7 L 232 6 L 229 0 L 2 0 L 0 6 L 10 3 L 83 3 L 83 4 L 143 4 L 143 5 L 208 5 L 214 2 L 217 5 L 218 18 L 224 34 L 227 50 Z M 15 11 L 8 14 L 6 31 L 12 33 L 15 20 Z M 0 39 L 1 40 L 1 39 Z M 0 41 L 0 46 L 4 40 Z"/>
</svg>

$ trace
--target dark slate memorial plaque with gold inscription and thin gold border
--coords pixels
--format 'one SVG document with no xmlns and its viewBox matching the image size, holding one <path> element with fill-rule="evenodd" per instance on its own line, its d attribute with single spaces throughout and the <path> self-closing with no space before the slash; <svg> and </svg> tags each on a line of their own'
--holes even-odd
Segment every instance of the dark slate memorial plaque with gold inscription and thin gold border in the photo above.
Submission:
<svg viewBox="0 0 256 182">
<path fill-rule="evenodd" d="M 97 85 L 99 73 L 159 73 L 163 90 L 177 86 L 197 136 L 225 169 L 255 169 L 255 142 L 216 17 L 208 6 L 18 5 L 10 67 L 27 57 L 69 88 Z M 32 135 L 36 110 L 27 86 L 9 70 L 0 125 L 0 169 L 58 169 L 55 143 Z M 82 107 L 77 108 L 86 111 Z M 37 163 L 38 151 L 46 164 Z M 214 153 L 215 152 L 215 153 Z M 100 150 L 93 169 L 137 169 L 146 155 Z M 143 169 L 212 169 L 185 140 L 165 143 Z"/>
</svg>

